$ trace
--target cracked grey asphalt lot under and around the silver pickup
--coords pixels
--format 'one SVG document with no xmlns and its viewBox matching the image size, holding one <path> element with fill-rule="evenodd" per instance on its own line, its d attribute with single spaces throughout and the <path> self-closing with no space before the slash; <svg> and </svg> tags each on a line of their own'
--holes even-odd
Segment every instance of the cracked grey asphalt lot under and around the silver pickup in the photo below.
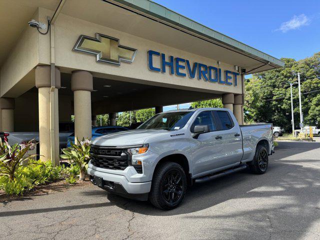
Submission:
<svg viewBox="0 0 320 240">
<path fill-rule="evenodd" d="M 319 239 L 320 142 L 280 142 L 263 175 L 188 189 L 162 211 L 94 185 L 1 203 L 0 239 Z"/>
</svg>

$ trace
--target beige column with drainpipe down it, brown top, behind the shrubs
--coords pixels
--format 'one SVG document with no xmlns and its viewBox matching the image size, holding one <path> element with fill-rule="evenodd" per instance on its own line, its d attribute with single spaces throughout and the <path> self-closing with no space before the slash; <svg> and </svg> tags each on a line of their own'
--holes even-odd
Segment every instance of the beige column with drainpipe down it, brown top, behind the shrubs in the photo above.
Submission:
<svg viewBox="0 0 320 240">
<path fill-rule="evenodd" d="M 51 67 L 40 65 L 35 68 L 35 86 L 38 88 L 40 159 L 59 164 L 59 108 L 58 89 L 60 70 L 55 67 L 54 86 L 51 85 Z M 51 122 L 51 124 L 50 124 Z"/>
</svg>

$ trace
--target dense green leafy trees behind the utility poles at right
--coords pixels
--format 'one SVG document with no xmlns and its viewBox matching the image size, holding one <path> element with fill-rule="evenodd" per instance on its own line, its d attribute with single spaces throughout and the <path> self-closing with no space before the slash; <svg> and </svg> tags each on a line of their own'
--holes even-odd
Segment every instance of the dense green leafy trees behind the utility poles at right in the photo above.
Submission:
<svg viewBox="0 0 320 240">
<path fill-rule="evenodd" d="M 244 120 L 254 122 L 272 122 L 286 130 L 291 129 L 290 84 L 295 82 L 295 73 L 301 72 L 301 102 L 304 124 L 319 124 L 319 111 L 308 115 L 313 98 L 320 91 L 320 52 L 311 57 L 296 61 L 281 58 L 283 68 L 255 73 L 245 81 Z M 297 84 L 292 87 L 294 122 L 298 128 L 299 103 Z M 316 104 L 316 100 L 315 103 Z M 316 123 L 317 122 L 317 123 Z"/>
</svg>

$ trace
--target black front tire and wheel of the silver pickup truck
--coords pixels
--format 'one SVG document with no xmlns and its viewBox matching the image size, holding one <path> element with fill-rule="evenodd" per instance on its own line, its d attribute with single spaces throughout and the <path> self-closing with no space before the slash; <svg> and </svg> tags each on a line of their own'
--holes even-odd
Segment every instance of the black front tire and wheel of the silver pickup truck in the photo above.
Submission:
<svg viewBox="0 0 320 240">
<path fill-rule="evenodd" d="M 153 174 L 149 200 L 160 209 L 175 208 L 184 197 L 186 185 L 181 165 L 171 161 L 160 163 Z"/>
</svg>

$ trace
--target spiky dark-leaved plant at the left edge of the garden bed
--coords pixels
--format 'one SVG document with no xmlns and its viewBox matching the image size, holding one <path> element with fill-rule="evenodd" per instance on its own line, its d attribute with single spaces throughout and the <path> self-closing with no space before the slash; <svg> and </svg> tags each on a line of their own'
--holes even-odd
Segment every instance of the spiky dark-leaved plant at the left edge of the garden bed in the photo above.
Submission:
<svg viewBox="0 0 320 240">
<path fill-rule="evenodd" d="M 15 173 L 22 165 L 39 164 L 29 160 L 33 159 L 33 155 L 25 155 L 25 153 L 34 145 L 33 140 L 24 144 L 9 145 L 8 142 L 0 139 L 0 176 L 7 176 L 10 180 L 15 180 Z M 23 164 L 22 164 L 23 163 Z"/>
</svg>

